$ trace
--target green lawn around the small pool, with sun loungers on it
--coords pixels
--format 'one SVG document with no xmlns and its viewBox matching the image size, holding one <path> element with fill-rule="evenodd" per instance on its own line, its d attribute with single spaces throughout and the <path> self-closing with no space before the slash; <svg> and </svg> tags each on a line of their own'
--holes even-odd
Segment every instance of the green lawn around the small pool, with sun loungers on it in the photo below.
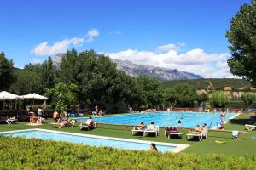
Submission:
<svg viewBox="0 0 256 170">
<path fill-rule="evenodd" d="M 185 153 L 222 153 L 225 155 L 236 155 L 236 156 L 256 156 L 256 139 L 252 139 L 252 136 L 256 136 L 256 130 L 248 132 L 246 134 L 241 134 L 239 139 L 232 139 L 231 133 L 222 133 L 222 132 L 210 132 L 207 139 L 203 139 L 202 142 L 198 141 L 188 141 L 185 136 L 183 139 L 167 139 L 164 135 L 163 129 L 160 129 L 160 136 L 158 137 L 142 137 L 142 136 L 132 136 L 131 127 L 125 126 L 111 126 L 111 125 L 98 125 L 98 127 L 91 131 L 80 131 L 78 124 L 75 124 L 75 127 L 63 127 L 61 129 L 53 128 L 49 125 L 49 122 L 52 120 L 47 120 L 46 123 L 42 126 L 28 126 L 28 122 L 17 122 L 15 124 L 7 125 L 1 124 L 0 131 L 10 131 L 10 130 L 20 130 L 28 128 L 43 128 L 58 130 L 64 132 L 72 133 L 86 133 L 86 134 L 95 134 L 101 136 L 109 136 L 116 138 L 125 138 L 125 139 L 138 139 L 138 140 L 150 140 L 166 143 L 176 143 L 176 144 L 190 144 L 190 147 L 186 150 L 183 150 Z M 226 124 L 226 129 L 232 130 L 241 130 L 245 131 L 244 124 L 248 122 L 248 116 L 240 116 L 234 120 L 231 120 Z M 188 131 L 183 130 L 183 133 Z M 225 141 L 225 144 L 217 144 L 215 140 Z"/>
</svg>

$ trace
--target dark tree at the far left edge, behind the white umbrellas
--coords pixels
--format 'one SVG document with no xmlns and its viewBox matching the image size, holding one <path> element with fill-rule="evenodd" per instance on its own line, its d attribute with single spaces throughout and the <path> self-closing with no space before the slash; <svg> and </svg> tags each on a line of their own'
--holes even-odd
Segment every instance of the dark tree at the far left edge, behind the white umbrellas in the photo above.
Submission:
<svg viewBox="0 0 256 170">
<path fill-rule="evenodd" d="M 10 85 L 15 82 L 14 63 L 0 54 L 0 91 L 9 90 Z"/>
</svg>

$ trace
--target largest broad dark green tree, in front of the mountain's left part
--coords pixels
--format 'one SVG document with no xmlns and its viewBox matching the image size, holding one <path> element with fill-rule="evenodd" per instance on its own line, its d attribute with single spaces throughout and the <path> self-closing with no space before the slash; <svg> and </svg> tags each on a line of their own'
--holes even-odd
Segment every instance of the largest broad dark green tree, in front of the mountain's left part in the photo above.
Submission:
<svg viewBox="0 0 256 170">
<path fill-rule="evenodd" d="M 94 51 L 80 54 L 76 50 L 68 51 L 61 62 L 59 77 L 60 82 L 78 86 L 79 102 L 132 103 L 134 82 L 103 54 L 98 55 Z"/>
</svg>

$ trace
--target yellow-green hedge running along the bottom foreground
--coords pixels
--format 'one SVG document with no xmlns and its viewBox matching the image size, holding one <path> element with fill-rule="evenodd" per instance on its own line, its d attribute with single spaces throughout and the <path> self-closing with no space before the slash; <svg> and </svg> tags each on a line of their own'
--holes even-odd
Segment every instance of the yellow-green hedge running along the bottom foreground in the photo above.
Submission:
<svg viewBox="0 0 256 170">
<path fill-rule="evenodd" d="M 256 169 L 256 157 L 117 150 L 0 137 L 0 169 Z"/>
</svg>

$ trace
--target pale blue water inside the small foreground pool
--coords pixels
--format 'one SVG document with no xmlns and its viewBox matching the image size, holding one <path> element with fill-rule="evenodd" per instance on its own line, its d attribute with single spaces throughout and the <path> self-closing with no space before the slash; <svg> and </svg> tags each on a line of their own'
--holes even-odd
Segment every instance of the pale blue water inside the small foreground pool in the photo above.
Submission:
<svg viewBox="0 0 256 170">
<path fill-rule="evenodd" d="M 120 140 L 113 140 L 113 139 L 99 139 L 99 138 L 92 138 L 92 137 L 85 137 L 67 133 L 52 133 L 52 132 L 45 132 L 39 130 L 28 130 L 23 132 L 12 132 L 12 133 L 3 133 L 0 134 L 2 136 L 13 136 L 13 137 L 25 137 L 28 139 L 35 138 L 35 139 L 49 139 L 55 141 L 66 141 L 72 142 L 77 144 L 85 144 L 90 146 L 108 146 L 113 148 L 119 148 L 124 150 L 149 150 L 149 144 L 143 143 L 136 143 L 136 142 L 128 142 L 128 141 L 120 141 Z M 160 145 L 157 144 L 157 148 L 160 152 L 170 151 L 175 146 L 172 145 Z"/>
</svg>

